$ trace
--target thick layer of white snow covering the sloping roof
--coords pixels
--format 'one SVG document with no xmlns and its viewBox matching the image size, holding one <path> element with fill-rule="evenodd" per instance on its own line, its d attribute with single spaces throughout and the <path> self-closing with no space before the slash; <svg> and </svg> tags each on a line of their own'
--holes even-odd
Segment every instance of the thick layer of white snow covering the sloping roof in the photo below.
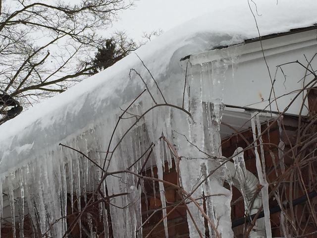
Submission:
<svg viewBox="0 0 317 238">
<path fill-rule="evenodd" d="M 316 0 L 256 2 L 258 12 L 252 1 L 250 5 L 261 35 L 317 23 Z M 156 77 L 161 89 L 167 91 L 174 81 L 184 78 L 179 63 L 181 58 L 258 36 L 248 1 L 237 0 L 232 6 L 211 9 L 209 14 L 165 32 L 136 53 Z M 67 141 L 67 138 L 87 131 L 97 121 L 114 120 L 119 107 L 131 102 L 144 89 L 136 75 L 129 79 L 130 68 L 138 70 L 150 84 L 150 75 L 137 56 L 131 54 L 66 92 L 2 124 L 0 174 L 5 176 L 8 171 L 14 171 L 44 151 L 52 150 L 58 143 Z M 179 100 L 169 97 L 174 103 L 179 103 Z"/>
</svg>

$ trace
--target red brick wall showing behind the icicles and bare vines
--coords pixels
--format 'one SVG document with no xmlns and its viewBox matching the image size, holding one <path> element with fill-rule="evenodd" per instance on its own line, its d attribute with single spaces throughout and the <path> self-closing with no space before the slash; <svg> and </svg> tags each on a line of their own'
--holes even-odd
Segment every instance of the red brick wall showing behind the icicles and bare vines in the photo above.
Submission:
<svg viewBox="0 0 317 238">
<path fill-rule="evenodd" d="M 268 124 L 264 123 L 262 125 L 262 131 L 266 128 Z M 289 149 L 292 143 L 295 143 L 296 138 L 296 120 L 284 117 L 283 122 L 283 131 L 280 134 L 278 124 L 275 122 L 274 124 L 269 124 L 270 129 L 263 136 L 264 142 L 264 156 L 265 156 L 265 165 L 266 165 L 266 175 L 268 183 L 276 180 L 281 175 L 281 170 L 279 168 L 275 168 L 274 164 L 279 164 L 278 159 L 278 148 L 277 145 L 281 140 L 285 142 L 285 150 Z M 241 132 L 239 135 L 232 136 L 230 138 L 224 139 L 222 141 L 222 154 L 225 157 L 230 157 L 237 147 L 245 148 L 249 143 L 253 142 L 253 135 L 251 130 L 246 130 Z M 259 150 L 260 151 L 260 150 Z M 255 154 L 253 149 L 249 149 L 244 152 L 244 158 L 247 169 L 257 176 L 256 170 L 256 162 L 255 162 Z M 293 161 L 291 158 L 285 158 L 286 166 L 288 164 L 292 164 Z M 165 166 L 167 168 L 167 165 Z M 154 174 L 156 176 L 156 169 L 154 169 Z M 148 176 L 151 176 L 150 172 L 147 172 Z M 285 178 L 286 180 L 288 178 Z M 307 178 L 306 178 L 307 179 Z M 164 171 L 164 180 L 177 183 L 177 174 L 175 171 L 175 165 L 173 164 L 173 168 L 168 171 L 166 169 Z M 160 198 L 159 198 L 159 189 L 158 184 L 156 183 L 156 195 L 153 192 L 153 184 L 152 181 L 146 181 L 146 190 L 147 196 L 143 196 L 142 198 L 142 212 L 143 212 L 143 221 L 145 222 L 148 217 L 158 208 L 161 207 Z M 177 191 L 174 190 L 173 187 L 165 186 L 166 191 L 166 200 L 167 206 L 172 205 L 173 202 L 180 201 L 180 196 L 177 194 Z M 270 189 L 269 189 L 270 191 Z M 303 194 L 299 193 L 298 196 Z M 240 197 L 240 199 L 239 199 Z M 147 204 L 146 204 L 147 200 Z M 274 200 L 270 200 L 270 207 L 277 206 L 277 202 Z M 295 209 L 298 215 L 301 213 L 301 206 L 297 206 Z M 244 203 L 243 199 L 241 199 L 241 193 L 238 189 L 233 187 L 232 191 L 232 218 L 233 220 L 237 218 L 244 217 Z M 167 212 L 170 211 L 170 208 L 167 208 Z M 150 230 L 161 220 L 162 213 L 161 211 L 154 214 L 147 221 L 147 225 L 145 226 L 143 233 L 147 235 Z M 168 231 L 169 236 L 172 238 L 186 238 L 188 237 L 188 228 L 186 222 L 186 209 L 184 206 L 179 206 L 170 216 L 167 217 L 168 220 Z M 279 212 L 275 214 L 271 214 L 271 227 L 272 227 L 272 235 L 273 237 L 281 237 L 280 234 L 280 216 Z M 241 225 L 239 227 L 234 228 L 235 237 L 242 238 L 243 237 L 243 228 Z M 309 228 L 311 229 L 311 228 Z M 309 231 L 308 229 L 308 231 Z M 311 229 L 312 230 L 312 229 Z M 207 235 L 207 234 L 206 234 Z M 162 223 L 151 233 L 151 238 L 163 238 L 164 236 L 164 228 Z M 308 236 L 309 237 L 309 236 Z M 313 236 L 311 236 L 313 237 Z"/>
</svg>

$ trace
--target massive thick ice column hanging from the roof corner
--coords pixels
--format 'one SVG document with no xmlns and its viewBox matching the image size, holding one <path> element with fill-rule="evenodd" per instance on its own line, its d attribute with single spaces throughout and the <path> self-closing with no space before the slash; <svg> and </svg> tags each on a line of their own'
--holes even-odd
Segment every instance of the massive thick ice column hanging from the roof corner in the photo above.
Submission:
<svg viewBox="0 0 317 238">
<path fill-rule="evenodd" d="M 186 137 L 177 134 L 176 142 L 179 155 L 182 156 L 182 185 L 186 191 L 194 191 L 192 197 L 198 199 L 199 203 L 202 203 L 203 194 L 205 195 L 211 237 L 220 235 L 229 238 L 233 237 L 230 218 L 231 191 L 223 187 L 226 167 L 220 166 L 223 161 L 219 133 L 224 109 L 222 97 L 226 70 L 226 60 L 195 64 L 190 68 L 188 108 L 193 120 L 177 118 L 175 130 L 182 131 L 182 128 L 189 127 Z M 188 141 L 191 146 L 188 146 Z M 217 167 L 220 168 L 215 170 Z M 214 173 L 211 173 L 213 170 Z M 188 207 L 196 226 L 205 234 L 204 217 L 199 209 L 194 203 L 190 203 Z M 189 214 L 187 222 L 190 237 L 197 237 L 197 229 Z M 213 226 L 217 226 L 217 231 Z"/>
</svg>

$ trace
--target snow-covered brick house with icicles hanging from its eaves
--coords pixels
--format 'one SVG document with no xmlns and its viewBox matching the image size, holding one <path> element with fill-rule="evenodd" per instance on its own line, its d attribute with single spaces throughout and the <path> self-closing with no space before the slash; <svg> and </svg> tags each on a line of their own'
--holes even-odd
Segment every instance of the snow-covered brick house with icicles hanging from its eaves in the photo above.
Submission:
<svg viewBox="0 0 317 238">
<path fill-rule="evenodd" d="M 188 22 L 1 125 L 1 233 L 316 236 L 317 27 L 290 9 Z"/>
</svg>

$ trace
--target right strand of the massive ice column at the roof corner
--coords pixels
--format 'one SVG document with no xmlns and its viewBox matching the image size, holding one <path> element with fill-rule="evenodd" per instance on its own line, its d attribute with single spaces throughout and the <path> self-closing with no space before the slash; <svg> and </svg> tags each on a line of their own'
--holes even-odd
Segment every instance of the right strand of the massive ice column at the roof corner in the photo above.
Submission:
<svg viewBox="0 0 317 238">
<path fill-rule="evenodd" d="M 214 160 L 208 162 L 208 170 L 212 171 L 217 168 L 220 163 L 222 163 L 222 153 L 221 153 L 221 138 L 220 138 L 220 123 L 222 119 L 222 114 L 224 110 L 223 105 L 223 90 L 224 83 L 226 80 L 226 71 L 228 69 L 227 60 L 215 60 L 208 65 L 211 68 L 211 121 L 210 121 L 210 152 L 211 155 L 215 157 Z M 210 72 L 207 70 L 207 72 Z M 206 134 L 206 132 L 205 132 Z M 206 137 L 206 135 L 205 135 Z M 226 166 L 222 166 L 217 169 L 215 173 L 210 177 L 211 192 L 213 194 L 225 194 L 222 196 L 212 196 L 214 206 L 214 217 L 217 221 L 218 232 L 223 237 L 233 237 L 233 231 L 231 229 L 231 198 L 232 193 L 230 190 L 223 186 L 224 183 L 224 172 Z"/>
</svg>

